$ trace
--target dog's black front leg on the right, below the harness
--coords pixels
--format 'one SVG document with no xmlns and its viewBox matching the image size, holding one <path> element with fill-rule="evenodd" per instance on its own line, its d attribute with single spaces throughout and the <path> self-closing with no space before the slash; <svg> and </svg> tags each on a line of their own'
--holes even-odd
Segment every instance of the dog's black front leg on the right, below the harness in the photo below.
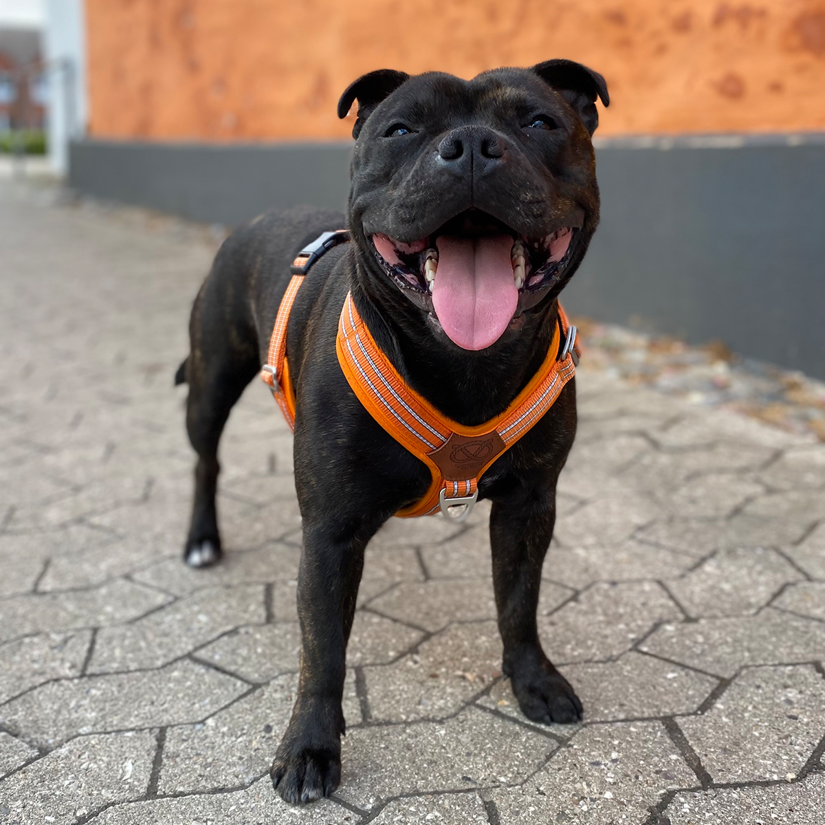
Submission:
<svg viewBox="0 0 825 825">
<path fill-rule="evenodd" d="M 493 502 L 493 587 L 504 643 L 502 669 L 528 719 L 577 722 L 582 703 L 544 655 L 536 625 L 544 555 L 553 536 L 555 486 L 543 485 Z"/>
</svg>

